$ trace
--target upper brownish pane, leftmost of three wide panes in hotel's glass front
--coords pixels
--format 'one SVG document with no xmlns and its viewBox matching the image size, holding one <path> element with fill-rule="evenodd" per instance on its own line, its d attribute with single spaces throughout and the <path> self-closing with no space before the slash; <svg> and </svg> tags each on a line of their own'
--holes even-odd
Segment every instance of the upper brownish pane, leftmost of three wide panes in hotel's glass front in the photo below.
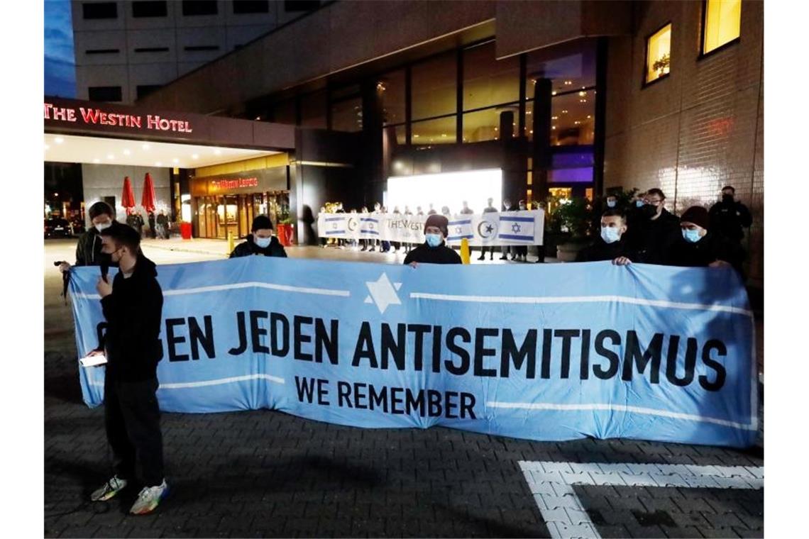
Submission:
<svg viewBox="0 0 809 539">
<path fill-rule="evenodd" d="M 455 51 L 413 65 L 413 120 L 454 114 L 457 111 Z M 455 129 L 452 129 L 455 133 Z"/>
</svg>

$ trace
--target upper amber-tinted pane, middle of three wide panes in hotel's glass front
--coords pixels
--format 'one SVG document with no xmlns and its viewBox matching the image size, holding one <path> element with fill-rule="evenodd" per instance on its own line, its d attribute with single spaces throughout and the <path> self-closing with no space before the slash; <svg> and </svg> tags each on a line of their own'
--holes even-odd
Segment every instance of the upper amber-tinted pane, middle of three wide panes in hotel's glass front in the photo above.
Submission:
<svg viewBox="0 0 809 539">
<path fill-rule="evenodd" d="M 464 51 L 464 111 L 519 101 L 519 57 L 494 56 L 493 41 Z"/>
</svg>

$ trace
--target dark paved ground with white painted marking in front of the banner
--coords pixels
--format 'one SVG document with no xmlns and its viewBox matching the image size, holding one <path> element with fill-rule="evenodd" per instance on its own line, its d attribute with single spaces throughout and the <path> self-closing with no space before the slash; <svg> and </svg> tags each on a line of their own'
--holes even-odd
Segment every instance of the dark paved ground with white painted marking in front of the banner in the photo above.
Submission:
<svg viewBox="0 0 809 539">
<path fill-rule="evenodd" d="M 764 535 L 763 489 L 721 487 L 760 474 L 762 447 L 540 443 L 446 428 L 341 427 L 277 411 L 164 414 L 172 488 L 165 502 L 150 516 L 127 514 L 135 489 L 89 503 L 111 466 L 103 409 L 81 401 L 70 307 L 58 297 L 61 278 L 51 264 L 71 249 L 70 242 L 46 245 L 45 537 L 551 537 L 575 516 L 586 516 L 601 537 Z M 144 249 L 158 263 L 215 258 L 151 242 Z M 655 484 L 679 486 L 615 486 L 611 468 L 575 463 L 718 466 L 712 470 L 730 477 L 705 487 L 714 482 L 694 479 L 697 469 L 655 466 L 649 477 L 664 479 Z M 567 469 L 586 473 L 553 482 Z"/>
</svg>

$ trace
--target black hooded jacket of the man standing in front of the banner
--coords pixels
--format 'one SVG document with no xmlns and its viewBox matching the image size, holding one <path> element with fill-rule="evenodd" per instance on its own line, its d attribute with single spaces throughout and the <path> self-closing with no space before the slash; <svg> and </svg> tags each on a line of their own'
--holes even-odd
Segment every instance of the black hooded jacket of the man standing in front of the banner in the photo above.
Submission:
<svg viewBox="0 0 809 539">
<path fill-rule="evenodd" d="M 156 277 L 155 263 L 141 253 L 132 275 L 125 279 L 118 272 L 112 294 L 101 300 L 108 325 L 99 347 L 106 349 L 107 376 L 116 381 L 157 377 L 163 356 L 159 340 L 163 291 Z"/>
</svg>

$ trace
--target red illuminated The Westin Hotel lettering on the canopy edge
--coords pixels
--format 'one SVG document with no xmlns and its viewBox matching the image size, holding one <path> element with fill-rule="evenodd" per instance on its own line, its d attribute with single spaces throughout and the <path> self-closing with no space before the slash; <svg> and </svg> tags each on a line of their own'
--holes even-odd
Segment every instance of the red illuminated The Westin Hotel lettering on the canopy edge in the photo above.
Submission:
<svg viewBox="0 0 809 539">
<path fill-rule="evenodd" d="M 76 110 L 77 108 L 78 112 Z M 165 118 L 156 114 L 121 114 L 97 107 L 59 107 L 53 103 L 44 103 L 44 120 L 68 123 L 78 122 L 86 125 L 109 125 L 112 127 L 130 129 L 150 129 L 153 131 L 172 131 L 175 133 L 193 133 L 193 128 L 188 120 Z"/>
</svg>

